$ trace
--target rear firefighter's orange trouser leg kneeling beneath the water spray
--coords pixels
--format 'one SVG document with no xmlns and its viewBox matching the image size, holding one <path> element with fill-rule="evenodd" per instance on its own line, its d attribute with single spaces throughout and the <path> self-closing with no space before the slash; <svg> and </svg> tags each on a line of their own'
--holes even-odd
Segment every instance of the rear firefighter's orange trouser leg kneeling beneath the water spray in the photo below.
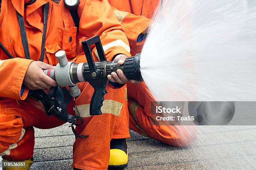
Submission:
<svg viewBox="0 0 256 170">
<path fill-rule="evenodd" d="M 155 100 L 144 82 L 128 82 L 127 94 L 129 128 L 146 137 L 177 147 L 189 146 L 195 141 L 195 126 L 154 125 L 151 122 L 151 102 Z"/>
</svg>

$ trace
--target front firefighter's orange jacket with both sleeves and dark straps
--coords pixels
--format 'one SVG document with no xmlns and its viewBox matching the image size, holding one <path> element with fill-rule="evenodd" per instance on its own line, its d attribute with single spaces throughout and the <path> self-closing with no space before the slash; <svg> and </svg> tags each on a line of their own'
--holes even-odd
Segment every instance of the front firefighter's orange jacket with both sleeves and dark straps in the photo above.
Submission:
<svg viewBox="0 0 256 170">
<path fill-rule="evenodd" d="M 15 58 L 9 59 L 3 50 L 0 50 L 0 97 L 24 100 L 28 94 L 26 89 L 23 96 L 20 96 L 20 89 L 29 64 L 40 58 L 44 27 L 42 5 L 47 3 L 46 1 L 50 2 L 50 5 L 44 62 L 56 65 L 54 54 L 58 50 L 65 50 L 69 60 L 75 60 L 80 52 L 77 28 L 63 1 L 60 1 L 58 6 L 53 4 L 56 0 L 36 0 L 32 5 L 28 5 L 26 10 L 23 0 L 2 1 L 0 42 Z M 16 11 L 24 18 L 31 60 L 24 57 Z M 127 37 L 107 0 L 80 1 L 77 11 L 80 17 L 79 35 L 85 38 L 100 35 L 107 60 L 112 60 L 120 53 L 130 55 Z M 94 57 L 97 57 L 95 49 L 93 52 Z"/>
</svg>

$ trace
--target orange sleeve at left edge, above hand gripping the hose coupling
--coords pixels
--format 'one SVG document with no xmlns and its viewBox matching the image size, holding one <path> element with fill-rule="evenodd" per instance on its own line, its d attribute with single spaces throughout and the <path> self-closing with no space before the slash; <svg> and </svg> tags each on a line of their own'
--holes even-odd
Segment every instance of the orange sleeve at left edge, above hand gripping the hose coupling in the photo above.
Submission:
<svg viewBox="0 0 256 170">
<path fill-rule="evenodd" d="M 28 66 L 32 61 L 24 58 L 0 60 L 0 97 L 26 99 L 28 89 L 25 88 L 22 96 L 20 96 L 20 90 Z"/>
</svg>

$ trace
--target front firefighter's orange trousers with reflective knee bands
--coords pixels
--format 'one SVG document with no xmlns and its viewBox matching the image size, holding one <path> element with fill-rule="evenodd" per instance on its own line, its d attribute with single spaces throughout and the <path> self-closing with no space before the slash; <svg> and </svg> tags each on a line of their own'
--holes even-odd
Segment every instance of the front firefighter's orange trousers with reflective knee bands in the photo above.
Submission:
<svg viewBox="0 0 256 170">
<path fill-rule="evenodd" d="M 84 56 L 83 56 L 84 58 Z M 82 93 L 76 102 L 71 102 L 69 113 L 74 114 L 73 107 L 88 108 L 93 88 L 88 82 L 80 83 Z M 106 88 L 103 107 L 105 112 L 99 116 L 84 117 L 84 124 L 77 126 L 80 135 L 73 146 L 73 166 L 79 169 L 107 169 L 112 138 L 129 138 L 129 116 L 127 108 L 126 85 L 113 89 Z M 117 108 L 118 106 L 118 108 Z M 113 108 L 113 109 L 109 109 Z M 89 114 L 89 112 L 88 112 Z M 31 159 L 34 148 L 33 127 L 49 129 L 62 125 L 56 117 L 48 117 L 41 103 L 27 97 L 26 100 L 0 98 L 0 156 L 18 161 Z M 49 153 L 51 154 L 51 153 Z"/>
</svg>

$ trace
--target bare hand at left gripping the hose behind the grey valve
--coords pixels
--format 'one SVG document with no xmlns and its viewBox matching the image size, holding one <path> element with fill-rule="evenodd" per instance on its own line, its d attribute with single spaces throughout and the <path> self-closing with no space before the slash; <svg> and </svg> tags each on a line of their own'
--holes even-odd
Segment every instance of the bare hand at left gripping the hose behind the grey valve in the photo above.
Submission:
<svg viewBox="0 0 256 170">
<path fill-rule="evenodd" d="M 49 89 L 57 86 L 55 80 L 44 74 L 43 70 L 52 68 L 51 65 L 41 61 L 33 61 L 28 66 L 28 70 L 23 80 L 23 84 L 31 90 Z"/>
</svg>

